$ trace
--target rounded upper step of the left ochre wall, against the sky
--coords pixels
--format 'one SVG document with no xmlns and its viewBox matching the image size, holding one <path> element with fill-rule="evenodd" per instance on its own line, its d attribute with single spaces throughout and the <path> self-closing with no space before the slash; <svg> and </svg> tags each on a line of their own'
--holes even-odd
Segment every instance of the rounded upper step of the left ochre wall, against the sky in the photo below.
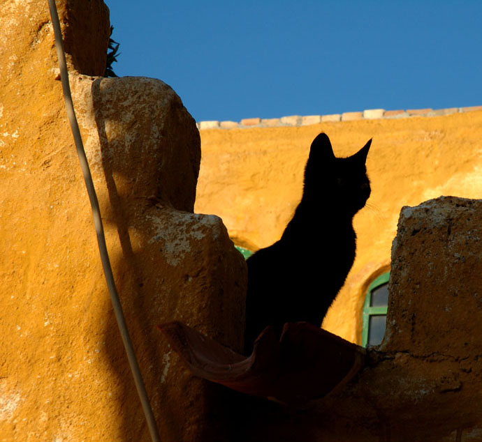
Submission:
<svg viewBox="0 0 482 442">
<path fill-rule="evenodd" d="M 117 192 L 192 211 L 200 162 L 200 149 L 195 147 L 199 135 L 173 89 L 150 78 L 94 79 L 82 75 L 71 75 L 71 89 L 83 126 L 85 150 L 91 169 L 101 174 L 99 181 L 105 179 L 108 168 L 115 175 Z M 152 156 L 144 164 L 142 158 L 149 149 Z M 122 161 L 117 159 L 121 155 Z"/>
</svg>

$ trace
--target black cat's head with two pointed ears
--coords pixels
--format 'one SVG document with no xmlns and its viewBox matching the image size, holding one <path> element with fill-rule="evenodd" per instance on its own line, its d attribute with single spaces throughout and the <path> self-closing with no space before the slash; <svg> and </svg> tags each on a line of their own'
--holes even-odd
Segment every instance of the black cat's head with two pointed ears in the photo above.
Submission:
<svg viewBox="0 0 482 442">
<path fill-rule="evenodd" d="M 350 157 L 336 158 L 328 135 L 319 134 L 309 151 L 303 199 L 351 215 L 363 208 L 371 191 L 365 166 L 370 144 L 371 139 Z"/>
</svg>

